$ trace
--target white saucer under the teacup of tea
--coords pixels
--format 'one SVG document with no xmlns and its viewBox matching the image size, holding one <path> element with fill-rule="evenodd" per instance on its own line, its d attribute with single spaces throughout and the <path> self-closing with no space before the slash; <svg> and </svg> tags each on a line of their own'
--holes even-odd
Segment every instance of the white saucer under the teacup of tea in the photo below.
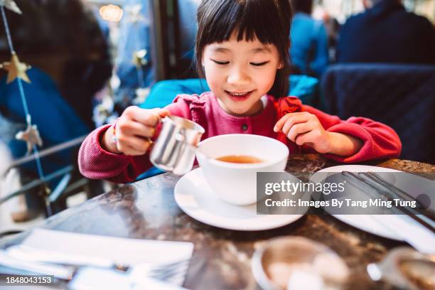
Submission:
<svg viewBox="0 0 435 290">
<path fill-rule="evenodd" d="M 237 194 L 237 193 L 235 193 Z M 257 205 L 231 205 L 218 198 L 201 168 L 181 177 L 174 189 L 178 206 L 186 215 L 207 225 L 228 230 L 269 230 L 289 225 L 303 215 L 257 215 Z"/>
</svg>

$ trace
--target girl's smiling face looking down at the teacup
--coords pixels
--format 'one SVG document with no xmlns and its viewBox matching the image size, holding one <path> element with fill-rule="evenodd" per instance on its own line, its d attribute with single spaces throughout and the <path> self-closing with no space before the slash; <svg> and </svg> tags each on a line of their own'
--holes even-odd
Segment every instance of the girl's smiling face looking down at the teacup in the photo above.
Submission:
<svg viewBox="0 0 435 290">
<path fill-rule="evenodd" d="M 205 78 L 225 112 L 250 116 L 262 111 L 261 97 L 274 85 L 276 70 L 282 68 L 272 44 L 229 41 L 206 45 L 203 52 Z"/>
</svg>

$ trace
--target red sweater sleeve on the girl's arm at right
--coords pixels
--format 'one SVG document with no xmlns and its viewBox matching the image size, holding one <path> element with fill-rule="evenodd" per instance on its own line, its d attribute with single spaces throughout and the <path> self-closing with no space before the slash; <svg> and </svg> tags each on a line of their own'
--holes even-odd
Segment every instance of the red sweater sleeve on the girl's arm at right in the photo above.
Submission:
<svg viewBox="0 0 435 290">
<path fill-rule="evenodd" d="M 402 151 L 399 136 L 394 129 L 385 124 L 363 117 L 350 117 L 343 121 L 337 116 L 326 114 L 307 105 L 303 105 L 302 110 L 315 114 L 327 131 L 348 134 L 363 141 L 360 151 L 353 156 L 325 154 L 328 159 L 355 163 L 373 159 L 397 158 Z"/>
</svg>

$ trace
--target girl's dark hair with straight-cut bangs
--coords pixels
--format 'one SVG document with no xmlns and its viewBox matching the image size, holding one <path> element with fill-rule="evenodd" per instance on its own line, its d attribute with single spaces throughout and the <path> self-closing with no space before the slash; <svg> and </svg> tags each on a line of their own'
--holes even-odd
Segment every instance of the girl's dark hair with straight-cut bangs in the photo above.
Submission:
<svg viewBox="0 0 435 290">
<path fill-rule="evenodd" d="M 284 97 L 289 92 L 290 26 L 289 0 L 203 0 L 198 7 L 198 34 L 195 60 L 200 77 L 204 76 L 203 50 L 211 43 L 229 41 L 237 31 L 237 41 L 273 44 L 279 53 L 283 68 L 276 72 L 269 95 Z"/>
</svg>

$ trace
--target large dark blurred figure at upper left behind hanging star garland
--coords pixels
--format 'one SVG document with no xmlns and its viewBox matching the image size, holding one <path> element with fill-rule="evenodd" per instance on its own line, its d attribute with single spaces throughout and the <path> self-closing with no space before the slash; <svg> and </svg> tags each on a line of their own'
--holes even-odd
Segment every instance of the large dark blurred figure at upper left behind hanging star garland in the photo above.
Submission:
<svg viewBox="0 0 435 290">
<path fill-rule="evenodd" d="M 92 99 L 112 74 L 107 39 L 94 13 L 81 0 L 15 1 L 23 14 L 6 9 L 6 18 L 20 60 L 50 76 L 80 119 L 94 128 Z M 9 58 L 2 27 L 0 62 Z M 0 78 L 5 75 L 0 70 Z"/>
</svg>

